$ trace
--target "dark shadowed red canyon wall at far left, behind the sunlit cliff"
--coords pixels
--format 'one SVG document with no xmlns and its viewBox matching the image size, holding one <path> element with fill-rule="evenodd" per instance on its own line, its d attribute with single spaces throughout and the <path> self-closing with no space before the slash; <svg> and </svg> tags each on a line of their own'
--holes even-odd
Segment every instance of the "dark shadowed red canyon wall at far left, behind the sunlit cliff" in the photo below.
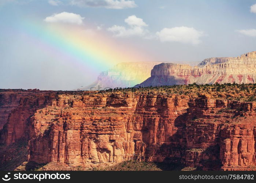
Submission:
<svg viewBox="0 0 256 183">
<path fill-rule="evenodd" d="M 20 138 L 29 138 L 29 117 L 37 109 L 49 105 L 55 98 L 52 91 L 7 90 L 0 92 L 0 142 L 10 144 Z"/>
</svg>

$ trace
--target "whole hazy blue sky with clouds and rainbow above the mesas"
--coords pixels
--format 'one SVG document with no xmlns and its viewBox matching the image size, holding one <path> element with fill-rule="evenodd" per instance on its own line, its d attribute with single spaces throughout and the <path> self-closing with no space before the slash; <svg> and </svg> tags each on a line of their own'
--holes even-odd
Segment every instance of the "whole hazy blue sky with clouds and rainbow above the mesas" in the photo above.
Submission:
<svg viewBox="0 0 256 183">
<path fill-rule="evenodd" d="M 0 0 L 0 88 L 73 90 L 127 61 L 256 51 L 256 0 Z"/>
</svg>

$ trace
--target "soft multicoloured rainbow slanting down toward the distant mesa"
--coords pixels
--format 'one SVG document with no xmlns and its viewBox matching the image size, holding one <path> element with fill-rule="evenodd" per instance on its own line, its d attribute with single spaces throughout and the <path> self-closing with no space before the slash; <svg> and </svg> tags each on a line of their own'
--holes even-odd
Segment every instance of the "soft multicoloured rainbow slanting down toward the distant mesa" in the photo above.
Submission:
<svg viewBox="0 0 256 183">
<path fill-rule="evenodd" d="M 60 58 L 68 57 L 72 64 L 89 68 L 91 72 L 107 70 L 120 62 L 150 61 L 132 51 L 129 45 L 120 46 L 103 31 L 91 31 L 87 26 L 37 22 L 24 21 L 19 31 L 38 43 L 36 46 L 47 54 L 52 52 L 58 53 Z"/>
</svg>

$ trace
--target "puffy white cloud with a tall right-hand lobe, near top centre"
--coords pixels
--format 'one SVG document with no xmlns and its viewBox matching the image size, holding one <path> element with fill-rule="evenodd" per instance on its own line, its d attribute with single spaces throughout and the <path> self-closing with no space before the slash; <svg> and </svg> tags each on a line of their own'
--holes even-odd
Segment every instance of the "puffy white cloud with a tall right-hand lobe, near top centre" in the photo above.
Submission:
<svg viewBox="0 0 256 183">
<path fill-rule="evenodd" d="M 128 18 L 125 19 L 125 22 L 127 23 L 127 25 L 129 25 L 128 28 L 124 26 L 113 25 L 112 27 L 109 27 L 107 30 L 114 33 L 114 36 L 116 37 L 146 37 L 147 34 L 149 33 L 149 31 L 145 29 L 145 27 L 148 25 L 143 21 L 143 19 L 138 18 L 135 15 L 128 16 Z"/>
</svg>

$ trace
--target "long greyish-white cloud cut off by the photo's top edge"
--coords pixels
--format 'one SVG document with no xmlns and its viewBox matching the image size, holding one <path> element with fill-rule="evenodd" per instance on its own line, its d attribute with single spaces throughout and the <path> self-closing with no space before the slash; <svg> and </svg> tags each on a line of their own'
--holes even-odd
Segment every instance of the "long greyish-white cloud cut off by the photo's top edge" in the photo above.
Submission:
<svg viewBox="0 0 256 183">
<path fill-rule="evenodd" d="M 133 0 L 71 0 L 72 5 L 79 7 L 103 7 L 107 9 L 135 8 L 137 5 Z"/>
</svg>

